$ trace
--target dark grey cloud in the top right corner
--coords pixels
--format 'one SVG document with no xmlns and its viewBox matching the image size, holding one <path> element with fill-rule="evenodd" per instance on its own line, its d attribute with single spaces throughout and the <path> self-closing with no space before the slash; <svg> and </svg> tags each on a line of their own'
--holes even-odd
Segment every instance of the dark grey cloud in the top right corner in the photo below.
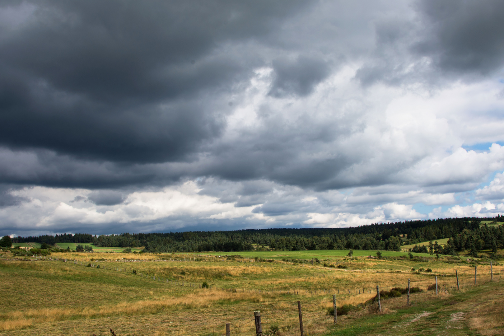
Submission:
<svg viewBox="0 0 504 336">
<path fill-rule="evenodd" d="M 504 64 L 504 3 L 435 1 L 418 3 L 430 34 L 417 45 L 447 72 L 486 75 Z"/>
</svg>

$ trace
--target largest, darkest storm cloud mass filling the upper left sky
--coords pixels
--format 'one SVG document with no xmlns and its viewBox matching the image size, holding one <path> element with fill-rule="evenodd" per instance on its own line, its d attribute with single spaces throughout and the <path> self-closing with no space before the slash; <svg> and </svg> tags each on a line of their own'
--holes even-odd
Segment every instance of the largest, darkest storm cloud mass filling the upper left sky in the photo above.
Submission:
<svg viewBox="0 0 504 336">
<path fill-rule="evenodd" d="M 260 59 L 224 52 L 261 39 L 302 2 L 34 2 L 3 27 L 0 143 L 82 158 L 186 160 L 220 135 L 229 91 Z M 238 56 L 238 57 L 236 57 Z"/>
</svg>

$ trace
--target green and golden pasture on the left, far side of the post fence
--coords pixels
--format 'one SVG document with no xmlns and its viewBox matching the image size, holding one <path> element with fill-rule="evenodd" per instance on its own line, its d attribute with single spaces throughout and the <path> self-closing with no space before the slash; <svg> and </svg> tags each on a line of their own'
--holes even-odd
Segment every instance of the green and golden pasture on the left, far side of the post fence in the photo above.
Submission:
<svg viewBox="0 0 504 336">
<path fill-rule="evenodd" d="M 328 251 L 291 251 L 308 253 L 326 253 Z M 335 251 L 329 251 L 335 252 Z M 336 251 L 337 252 L 337 251 Z M 341 251 L 340 254 L 343 254 Z M 370 251 L 365 251 L 366 253 Z M 4 252 L 5 253 L 5 252 Z M 259 252 L 272 253 L 272 252 Z M 275 252 L 283 253 L 283 252 Z M 11 257 L 8 254 L 0 259 Z M 53 253 L 51 257 L 77 258 L 86 264 L 91 257 L 104 258 L 98 261 L 101 268 L 85 267 L 80 264 L 54 260 L 0 261 L 0 277 L 4 285 L 0 286 L 0 295 L 4 299 L 0 323 L 7 314 L 26 314 L 28 309 L 43 310 L 47 308 L 61 308 L 70 315 L 59 319 L 39 321 L 31 328 L 24 330 L 0 331 L 0 334 L 9 335 L 63 335 L 63 334 L 109 334 L 107 328 L 113 327 L 117 334 L 179 334 L 179 335 L 213 335 L 221 334 L 226 321 L 231 321 L 232 328 L 244 323 L 250 317 L 251 311 L 261 310 L 264 314 L 263 328 L 267 329 L 272 322 L 284 325 L 296 325 L 296 301 L 300 300 L 305 305 L 328 301 L 336 289 L 341 290 L 343 297 L 348 290 L 355 293 L 362 288 L 373 289 L 375 285 L 382 288 L 393 284 L 421 280 L 415 283 L 427 286 L 433 282 L 431 274 L 412 274 L 411 267 L 432 268 L 433 273 L 448 274 L 439 278 L 440 285 L 453 282 L 450 276 L 453 268 L 459 270 L 459 277 L 471 281 L 471 265 L 461 261 L 450 263 L 445 259 L 429 261 L 411 260 L 375 260 L 357 257 L 352 260 L 341 256 L 334 256 L 334 261 L 349 267 L 349 271 L 334 270 L 320 265 L 298 265 L 290 262 L 247 262 L 242 260 L 226 260 L 225 258 L 209 258 L 204 254 L 108 254 L 108 253 Z M 145 258 L 146 260 L 159 260 L 161 257 L 174 260 L 168 261 L 137 261 L 122 262 L 128 259 Z M 202 261 L 188 261 L 187 257 L 197 257 Z M 123 259 L 127 258 L 127 259 Z M 183 261 L 183 258 L 186 260 Z M 282 256 L 280 256 L 282 258 Z M 116 261 L 120 259 L 122 261 Z M 97 263 L 97 261 L 94 261 Z M 248 289 L 250 292 L 232 293 L 228 291 L 216 292 L 214 298 L 201 302 L 200 297 L 206 293 L 193 287 L 175 286 L 158 283 L 152 280 L 135 276 L 130 272 L 112 271 L 109 267 L 134 267 L 138 273 L 148 273 L 171 279 L 183 280 L 201 284 L 209 282 L 217 289 Z M 484 273 L 485 267 L 478 267 L 478 274 Z M 494 266 L 494 272 L 501 266 Z M 353 271 L 353 270 L 358 270 Z M 462 272 L 467 270 L 465 274 Z M 292 289 L 301 289 L 299 295 L 257 294 L 255 291 L 283 290 L 292 293 Z M 332 289 L 331 294 L 321 292 L 321 289 Z M 314 290 L 318 290 L 314 294 Z M 226 294 L 227 293 L 227 294 Z M 193 296 L 192 296 L 193 295 Z M 195 297 L 196 295 L 196 297 Z M 226 296 L 227 295 L 227 296 Z M 373 294 L 351 297 L 348 303 L 356 304 L 365 301 Z M 163 303 L 165 298 L 180 298 L 176 305 Z M 415 299 L 416 300 L 416 299 Z M 194 302 L 194 303 L 187 303 Z M 208 303 L 207 303 L 208 302 Z M 345 301 L 338 301 L 339 304 Z M 392 301 L 391 301 L 392 302 Z M 121 306 L 121 303 L 124 303 Z M 129 312 L 120 310 L 120 307 L 135 307 L 144 304 L 146 308 L 140 311 Z M 331 303 L 315 305 L 306 308 L 306 331 L 311 334 L 321 334 L 331 324 L 325 310 Z M 114 310 L 117 306 L 117 310 Z M 79 313 L 79 309 L 89 311 L 101 307 L 105 313 L 86 315 Z M 292 311 L 292 312 L 291 312 Z M 110 313 L 108 313 L 110 312 Z M 51 316 L 52 313 L 47 315 Z M 321 315 L 322 314 L 322 315 Z M 43 315 L 43 314 L 42 314 Z M 308 320 L 324 317 L 317 324 L 310 324 Z M 27 319 L 31 321 L 31 316 Z M 350 321 L 350 320 L 349 320 Z M 169 323 L 173 322 L 173 323 Z M 380 322 L 380 321 L 378 321 Z M 378 323 L 377 322 L 377 323 Z M 31 323 L 31 322 L 30 322 Z M 380 322 L 381 323 L 381 322 Z M 352 321 L 352 324 L 355 324 Z M 213 329 L 216 327 L 217 329 Z M 220 329 L 219 329 L 220 328 Z M 311 329 L 310 329 L 311 328 Z M 239 332 L 233 334 L 253 334 L 253 325 L 246 324 Z M 294 331 L 294 330 L 292 330 Z M 293 333 L 295 334 L 295 332 Z M 343 333 L 344 334 L 344 333 Z M 284 333 L 285 335 L 285 333 Z"/>
</svg>

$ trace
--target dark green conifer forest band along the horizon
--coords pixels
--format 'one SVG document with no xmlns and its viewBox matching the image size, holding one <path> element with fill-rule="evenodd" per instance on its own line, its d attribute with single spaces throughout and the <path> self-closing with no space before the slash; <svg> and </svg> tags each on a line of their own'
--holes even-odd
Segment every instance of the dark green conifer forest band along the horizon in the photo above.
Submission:
<svg viewBox="0 0 504 336">
<path fill-rule="evenodd" d="M 92 243 L 95 246 L 139 247 L 146 252 L 223 251 L 237 252 L 269 246 L 271 250 L 361 249 L 400 251 L 402 245 L 452 238 L 444 246 L 437 243 L 415 246 L 413 252 L 456 254 L 470 250 L 497 252 L 504 247 L 504 226 L 481 225 L 495 218 L 445 218 L 423 221 L 376 223 L 351 228 L 248 229 L 236 231 L 187 231 L 170 233 L 121 233 L 112 235 L 61 234 L 16 237 L 13 242 Z M 403 242 L 406 238 L 406 241 Z"/>
</svg>

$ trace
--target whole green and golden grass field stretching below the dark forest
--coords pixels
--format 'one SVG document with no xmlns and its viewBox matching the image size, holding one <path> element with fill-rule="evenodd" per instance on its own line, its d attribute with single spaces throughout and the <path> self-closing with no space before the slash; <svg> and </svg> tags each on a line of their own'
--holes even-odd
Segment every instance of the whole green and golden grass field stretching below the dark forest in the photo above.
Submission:
<svg viewBox="0 0 504 336">
<path fill-rule="evenodd" d="M 0 277 L 4 280 L 0 286 L 0 334 L 98 336 L 110 335 L 113 328 L 118 336 L 217 336 L 223 334 L 226 322 L 231 322 L 233 335 L 254 334 L 253 311 L 260 310 L 263 330 L 278 325 L 279 336 L 295 335 L 299 334 L 298 300 L 303 306 L 306 335 L 380 334 L 388 328 L 399 334 L 401 329 L 393 325 L 414 334 L 418 323 L 402 325 L 424 310 L 444 309 L 439 316 L 445 318 L 452 307 L 446 306 L 447 302 L 474 300 L 471 304 L 476 305 L 489 298 L 485 294 L 488 291 L 502 292 L 498 286 L 504 283 L 504 267 L 495 262 L 493 286 L 497 287 L 485 287 L 490 286 L 485 284 L 489 265 L 483 260 L 478 265 L 478 284 L 482 286 L 474 287 L 474 267 L 464 258 L 366 258 L 374 252 L 354 251 L 352 259 L 345 256 L 347 250 L 240 252 L 241 257 L 234 258 L 225 253 L 65 252 L 30 260 L 4 251 L 0 252 Z M 256 261 L 256 256 L 262 259 Z M 61 261 L 64 258 L 72 262 Z M 311 258 L 321 262 L 311 265 L 296 260 Z M 324 262 L 346 268 L 325 267 Z M 92 267 L 87 267 L 89 263 Z M 411 268 L 430 268 L 432 272 L 412 272 Z M 455 268 L 462 286 L 460 294 L 454 289 Z M 438 298 L 426 290 L 434 283 L 434 276 L 438 277 Z M 383 300 L 382 313 L 355 311 L 339 316 L 336 327 L 326 314 L 332 307 L 333 294 L 339 307 L 357 305 L 375 295 L 376 285 L 390 289 L 399 284 L 404 288 L 408 279 L 424 290 L 412 295 L 413 306 L 404 306 L 405 296 Z M 209 289 L 199 288 L 204 281 Z M 457 311 L 469 314 L 474 310 L 457 304 L 453 305 Z M 438 327 L 427 318 L 420 321 L 428 321 L 426 325 L 432 330 Z M 469 334 L 464 333 L 470 330 L 468 321 L 454 332 Z M 439 326 L 439 331 L 445 332 L 445 326 Z"/>
</svg>

